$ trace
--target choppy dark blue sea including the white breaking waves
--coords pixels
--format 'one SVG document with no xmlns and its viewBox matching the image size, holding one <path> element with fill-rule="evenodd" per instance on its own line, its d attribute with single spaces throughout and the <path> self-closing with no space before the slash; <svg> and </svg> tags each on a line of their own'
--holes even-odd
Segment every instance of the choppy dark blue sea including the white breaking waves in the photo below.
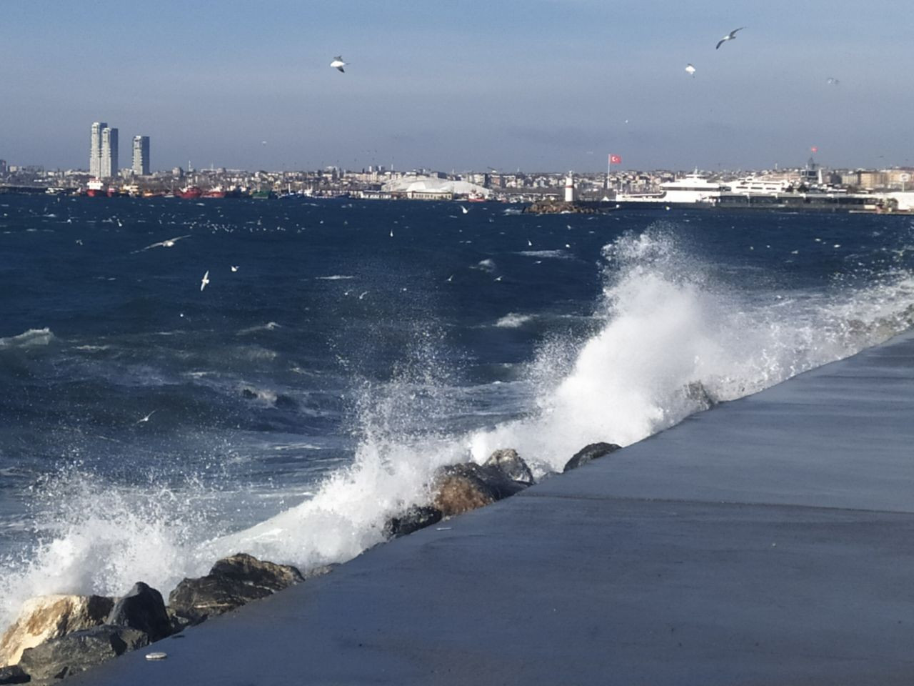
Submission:
<svg viewBox="0 0 914 686">
<path fill-rule="evenodd" d="M 910 216 L 0 196 L 0 629 L 345 563 L 439 466 L 560 478 L 912 324 Z"/>
</svg>

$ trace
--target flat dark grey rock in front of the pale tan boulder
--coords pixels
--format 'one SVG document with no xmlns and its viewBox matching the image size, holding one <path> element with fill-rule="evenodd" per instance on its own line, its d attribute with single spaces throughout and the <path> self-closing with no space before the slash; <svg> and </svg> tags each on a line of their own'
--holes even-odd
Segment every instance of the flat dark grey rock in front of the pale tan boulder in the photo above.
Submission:
<svg viewBox="0 0 914 686">
<path fill-rule="evenodd" d="M 131 627 L 107 624 L 52 638 L 22 653 L 19 666 L 32 683 L 48 683 L 149 645 L 149 637 Z"/>
</svg>

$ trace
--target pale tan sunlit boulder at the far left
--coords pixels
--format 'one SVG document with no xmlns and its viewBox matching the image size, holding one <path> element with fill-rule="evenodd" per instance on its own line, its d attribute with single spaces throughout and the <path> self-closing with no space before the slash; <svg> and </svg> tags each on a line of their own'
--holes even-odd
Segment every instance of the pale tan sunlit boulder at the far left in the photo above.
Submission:
<svg viewBox="0 0 914 686">
<path fill-rule="evenodd" d="M 16 622 L 0 638 L 0 667 L 15 665 L 26 648 L 104 624 L 112 606 L 114 600 L 101 595 L 38 595 L 29 598 Z"/>
</svg>

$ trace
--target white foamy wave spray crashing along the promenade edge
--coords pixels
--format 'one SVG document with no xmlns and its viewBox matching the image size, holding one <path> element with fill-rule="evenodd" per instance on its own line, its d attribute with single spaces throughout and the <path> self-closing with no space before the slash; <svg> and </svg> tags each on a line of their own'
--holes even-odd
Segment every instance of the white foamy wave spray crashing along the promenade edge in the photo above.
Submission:
<svg viewBox="0 0 914 686">
<path fill-rule="evenodd" d="M 305 570 L 345 562 L 382 541 L 389 515 L 428 497 L 438 466 L 481 462 L 496 448 L 514 447 L 538 475 L 560 470 L 582 445 L 629 445 L 703 409 L 702 398 L 688 392 L 696 384 L 717 401 L 733 400 L 914 323 L 910 273 L 861 288 L 741 291 L 719 283 L 710 265 L 663 230 L 623 236 L 603 258 L 592 335 L 542 346 L 526 373 L 535 401 L 525 416 L 470 432 L 436 430 L 437 418 L 468 408 L 454 400 L 448 379 L 430 371 L 441 369 L 433 351 L 413 350 L 407 372 L 363 393 L 352 464 L 249 529 L 219 535 L 211 513 L 188 504 L 195 498 L 186 494 L 162 489 L 138 507 L 137 498 L 84 475 L 61 477 L 56 488 L 66 489 L 66 506 L 53 516 L 61 523 L 28 559 L 2 565 L 0 625 L 29 595 L 118 595 L 138 580 L 167 594 L 183 576 L 205 573 L 233 552 Z M 188 488 L 197 489 L 197 503 L 206 501 L 203 487 Z"/>
</svg>

